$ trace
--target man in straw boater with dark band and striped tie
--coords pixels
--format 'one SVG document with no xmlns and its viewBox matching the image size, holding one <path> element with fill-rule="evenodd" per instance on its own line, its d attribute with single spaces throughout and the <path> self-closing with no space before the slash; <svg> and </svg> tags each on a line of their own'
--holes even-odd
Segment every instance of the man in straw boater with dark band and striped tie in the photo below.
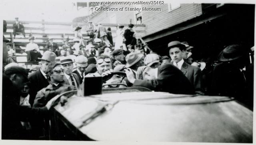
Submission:
<svg viewBox="0 0 256 145">
<path fill-rule="evenodd" d="M 64 82 L 67 85 L 73 85 L 76 88 L 80 85 L 79 77 L 73 71 L 73 60 L 69 57 L 60 58 L 60 64 L 64 68 Z"/>
</svg>

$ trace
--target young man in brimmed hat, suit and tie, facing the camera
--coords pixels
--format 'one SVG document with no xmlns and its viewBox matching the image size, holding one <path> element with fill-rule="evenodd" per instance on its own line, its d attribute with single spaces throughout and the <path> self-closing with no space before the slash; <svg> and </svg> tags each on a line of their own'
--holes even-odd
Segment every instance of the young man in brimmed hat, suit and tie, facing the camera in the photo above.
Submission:
<svg viewBox="0 0 256 145">
<path fill-rule="evenodd" d="M 204 95 L 200 68 L 187 64 L 183 59 L 184 54 L 187 53 L 186 46 L 179 41 L 172 41 L 168 44 L 167 50 L 172 59 L 172 64 L 186 75 L 190 83 L 194 85 L 197 94 Z"/>
</svg>

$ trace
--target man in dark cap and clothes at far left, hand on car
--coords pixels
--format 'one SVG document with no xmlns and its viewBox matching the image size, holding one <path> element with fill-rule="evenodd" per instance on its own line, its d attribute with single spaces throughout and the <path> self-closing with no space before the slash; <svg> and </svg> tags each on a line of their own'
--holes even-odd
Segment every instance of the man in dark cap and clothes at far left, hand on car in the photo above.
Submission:
<svg viewBox="0 0 256 145">
<path fill-rule="evenodd" d="M 45 107 L 34 108 L 20 105 L 21 90 L 28 82 L 28 72 L 20 66 L 11 66 L 3 74 L 2 88 L 2 139 L 34 139 L 25 138 L 20 121 L 29 121 L 37 117 L 46 117 L 48 109 L 57 97 L 46 103 Z"/>
</svg>

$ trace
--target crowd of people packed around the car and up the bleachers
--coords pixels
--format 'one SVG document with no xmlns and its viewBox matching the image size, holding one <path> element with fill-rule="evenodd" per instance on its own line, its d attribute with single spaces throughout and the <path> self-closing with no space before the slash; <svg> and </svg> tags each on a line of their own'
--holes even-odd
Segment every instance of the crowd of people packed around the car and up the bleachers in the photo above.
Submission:
<svg viewBox="0 0 256 145">
<path fill-rule="evenodd" d="M 114 75 L 104 83 L 118 82 L 174 94 L 229 96 L 252 108 L 253 63 L 244 70 L 246 48 L 227 46 L 215 66 L 192 62 L 193 47 L 186 42 L 170 41 L 165 56 L 159 56 L 147 44 L 138 46 L 132 24 L 126 30 L 118 26 L 114 43 L 110 28 L 106 31 L 98 24 L 94 30 L 92 22 L 89 24 L 86 33 L 90 40 L 85 40 L 81 27 L 77 27 L 74 46 L 65 40 L 58 48 L 50 39 L 41 56 L 34 37 L 30 37 L 26 49 L 38 54 L 31 59 L 39 66 L 29 75 L 16 63 L 4 66 L 2 139 L 48 139 L 48 110 L 58 95 L 81 91 L 85 77 L 104 77 L 116 71 L 126 73 L 126 77 L 121 80 Z M 8 60 L 8 42 L 3 38 L 3 62 Z"/>
</svg>

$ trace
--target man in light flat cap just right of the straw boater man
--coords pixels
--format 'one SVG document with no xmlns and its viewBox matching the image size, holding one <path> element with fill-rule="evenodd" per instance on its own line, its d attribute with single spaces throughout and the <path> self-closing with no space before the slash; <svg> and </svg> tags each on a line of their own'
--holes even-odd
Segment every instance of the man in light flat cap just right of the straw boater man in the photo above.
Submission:
<svg viewBox="0 0 256 145">
<path fill-rule="evenodd" d="M 76 57 L 76 70 L 73 73 L 76 73 L 79 77 L 80 84 L 83 82 L 85 77 L 85 70 L 87 66 L 88 60 L 85 56 L 77 56 Z"/>
</svg>

